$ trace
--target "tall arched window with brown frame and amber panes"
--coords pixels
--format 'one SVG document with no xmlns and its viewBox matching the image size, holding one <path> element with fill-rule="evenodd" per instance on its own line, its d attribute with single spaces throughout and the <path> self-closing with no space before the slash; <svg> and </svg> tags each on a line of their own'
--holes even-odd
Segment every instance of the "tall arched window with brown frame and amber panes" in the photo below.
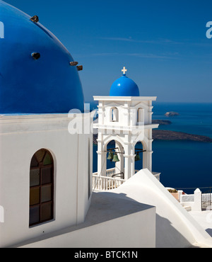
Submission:
<svg viewBox="0 0 212 262">
<path fill-rule="evenodd" d="M 37 151 L 30 163 L 30 226 L 54 216 L 54 163 L 46 149 Z"/>
</svg>

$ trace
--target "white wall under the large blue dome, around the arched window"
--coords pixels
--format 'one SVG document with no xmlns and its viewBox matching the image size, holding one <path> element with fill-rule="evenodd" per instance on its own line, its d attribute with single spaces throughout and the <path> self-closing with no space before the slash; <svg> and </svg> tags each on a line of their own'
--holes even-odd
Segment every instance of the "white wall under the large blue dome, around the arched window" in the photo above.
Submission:
<svg viewBox="0 0 212 262">
<path fill-rule="evenodd" d="M 4 223 L 0 223 L 0 247 L 84 220 L 90 203 L 88 138 L 91 144 L 93 139 L 70 135 L 69 121 L 66 114 L 1 118 L 0 205 L 4 207 Z M 54 159 L 54 220 L 29 227 L 30 161 L 42 148 Z M 92 166 L 92 154 L 90 161 Z"/>
</svg>

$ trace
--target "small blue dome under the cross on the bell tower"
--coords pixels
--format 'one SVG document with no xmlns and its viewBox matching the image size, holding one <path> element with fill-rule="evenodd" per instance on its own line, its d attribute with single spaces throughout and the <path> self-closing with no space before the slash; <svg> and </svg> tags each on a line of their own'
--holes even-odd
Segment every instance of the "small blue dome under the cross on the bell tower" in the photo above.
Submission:
<svg viewBox="0 0 212 262">
<path fill-rule="evenodd" d="M 114 81 L 110 88 L 110 96 L 140 96 L 139 87 L 125 74 Z"/>
</svg>

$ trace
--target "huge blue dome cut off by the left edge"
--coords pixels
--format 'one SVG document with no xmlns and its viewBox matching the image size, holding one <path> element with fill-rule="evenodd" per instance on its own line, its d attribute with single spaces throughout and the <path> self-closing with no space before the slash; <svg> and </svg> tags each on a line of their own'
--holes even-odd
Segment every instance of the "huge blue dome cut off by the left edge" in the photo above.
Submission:
<svg viewBox="0 0 212 262">
<path fill-rule="evenodd" d="M 0 18 L 0 113 L 68 113 L 73 108 L 83 112 L 78 70 L 70 66 L 73 57 L 64 45 L 1 0 Z"/>
</svg>

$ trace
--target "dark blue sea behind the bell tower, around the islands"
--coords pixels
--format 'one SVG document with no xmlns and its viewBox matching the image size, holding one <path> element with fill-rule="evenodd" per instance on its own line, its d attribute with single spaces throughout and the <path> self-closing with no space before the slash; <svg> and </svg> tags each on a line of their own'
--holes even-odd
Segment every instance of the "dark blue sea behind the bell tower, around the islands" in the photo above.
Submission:
<svg viewBox="0 0 212 262">
<path fill-rule="evenodd" d="M 93 103 L 93 108 L 95 104 Z M 167 117 L 175 111 L 178 116 Z M 153 119 L 170 120 L 160 130 L 187 132 L 212 138 L 212 103 L 153 103 Z M 97 146 L 93 147 L 93 171 L 97 171 Z M 112 167 L 108 161 L 107 168 Z M 136 162 L 142 169 L 142 161 Z M 191 141 L 153 141 L 153 171 L 160 172 L 163 186 L 193 193 L 212 187 L 212 143 Z"/>
</svg>

